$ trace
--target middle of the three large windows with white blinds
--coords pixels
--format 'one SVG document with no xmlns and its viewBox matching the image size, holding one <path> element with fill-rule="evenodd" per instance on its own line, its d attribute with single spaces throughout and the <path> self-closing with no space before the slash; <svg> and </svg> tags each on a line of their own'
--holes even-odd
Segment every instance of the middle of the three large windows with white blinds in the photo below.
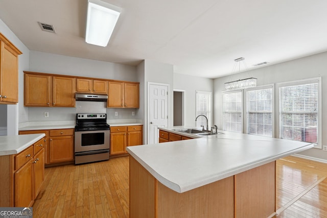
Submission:
<svg viewBox="0 0 327 218">
<path fill-rule="evenodd" d="M 273 86 L 246 90 L 248 134 L 273 136 Z"/>
</svg>

